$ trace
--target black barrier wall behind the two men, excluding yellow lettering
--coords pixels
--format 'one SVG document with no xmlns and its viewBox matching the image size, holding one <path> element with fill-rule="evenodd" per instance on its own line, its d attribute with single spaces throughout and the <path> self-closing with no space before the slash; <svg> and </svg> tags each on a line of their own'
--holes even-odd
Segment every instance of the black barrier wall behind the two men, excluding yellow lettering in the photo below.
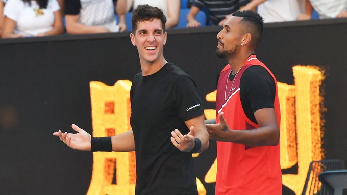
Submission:
<svg viewBox="0 0 347 195">
<path fill-rule="evenodd" d="M 219 27 L 168 32 L 166 60 L 195 80 L 201 97 L 216 88 L 225 59 L 215 56 Z M 347 160 L 347 20 L 266 24 L 258 58 L 278 81 L 293 84 L 292 66 L 326 70 L 326 158 Z M 67 148 L 52 133 L 77 124 L 91 133 L 90 81 L 114 85 L 140 72 L 129 33 L 0 40 L 0 194 L 86 194 L 92 154 Z M 214 103 L 204 101 L 205 109 Z M 215 143 L 196 163 L 204 176 Z M 214 194 L 214 184 L 206 184 Z M 293 194 L 284 188 L 283 194 Z"/>
</svg>

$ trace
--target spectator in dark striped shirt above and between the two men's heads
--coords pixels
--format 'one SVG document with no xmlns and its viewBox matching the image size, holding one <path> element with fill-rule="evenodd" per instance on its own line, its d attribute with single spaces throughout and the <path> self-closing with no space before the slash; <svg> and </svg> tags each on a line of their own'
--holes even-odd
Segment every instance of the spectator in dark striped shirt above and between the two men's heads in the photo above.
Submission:
<svg viewBox="0 0 347 195">
<path fill-rule="evenodd" d="M 187 27 L 199 27 L 201 23 L 195 20 L 196 14 L 199 12 L 202 7 L 207 7 L 212 19 L 213 25 L 222 25 L 230 15 L 237 10 L 255 10 L 259 0 L 251 2 L 250 0 L 195 0 L 190 8 L 189 13 L 187 14 Z M 243 8 L 246 7 L 246 8 Z"/>
</svg>

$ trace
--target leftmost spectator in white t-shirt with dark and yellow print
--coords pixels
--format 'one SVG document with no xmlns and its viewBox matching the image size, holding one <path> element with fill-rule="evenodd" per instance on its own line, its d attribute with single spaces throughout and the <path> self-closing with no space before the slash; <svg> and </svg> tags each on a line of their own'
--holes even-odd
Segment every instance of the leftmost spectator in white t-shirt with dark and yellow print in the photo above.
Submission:
<svg viewBox="0 0 347 195">
<path fill-rule="evenodd" d="M 57 0 L 7 0 L 3 38 L 58 35 L 64 32 Z"/>
</svg>

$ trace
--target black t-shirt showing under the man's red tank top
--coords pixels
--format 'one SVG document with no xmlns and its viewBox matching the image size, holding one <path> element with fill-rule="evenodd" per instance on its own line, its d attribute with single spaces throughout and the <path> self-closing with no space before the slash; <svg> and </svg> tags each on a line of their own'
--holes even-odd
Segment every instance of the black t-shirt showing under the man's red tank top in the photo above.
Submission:
<svg viewBox="0 0 347 195">
<path fill-rule="evenodd" d="M 230 74 L 230 80 L 233 79 Z M 274 108 L 276 86 L 274 78 L 259 65 L 247 68 L 240 80 L 240 100 L 247 118 L 257 123 L 254 112 L 262 108 Z"/>
</svg>

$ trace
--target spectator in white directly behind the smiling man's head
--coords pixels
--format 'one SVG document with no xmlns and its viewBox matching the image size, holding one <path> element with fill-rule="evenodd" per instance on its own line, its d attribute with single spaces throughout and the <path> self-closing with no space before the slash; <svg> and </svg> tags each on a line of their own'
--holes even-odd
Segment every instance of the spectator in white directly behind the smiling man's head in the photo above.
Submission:
<svg viewBox="0 0 347 195">
<path fill-rule="evenodd" d="M 117 14 L 119 26 L 126 28 L 125 14 L 129 12 L 131 6 L 135 9 L 138 5 L 148 4 L 163 10 L 167 21 L 166 29 L 177 26 L 180 18 L 180 0 L 117 0 Z"/>
</svg>

